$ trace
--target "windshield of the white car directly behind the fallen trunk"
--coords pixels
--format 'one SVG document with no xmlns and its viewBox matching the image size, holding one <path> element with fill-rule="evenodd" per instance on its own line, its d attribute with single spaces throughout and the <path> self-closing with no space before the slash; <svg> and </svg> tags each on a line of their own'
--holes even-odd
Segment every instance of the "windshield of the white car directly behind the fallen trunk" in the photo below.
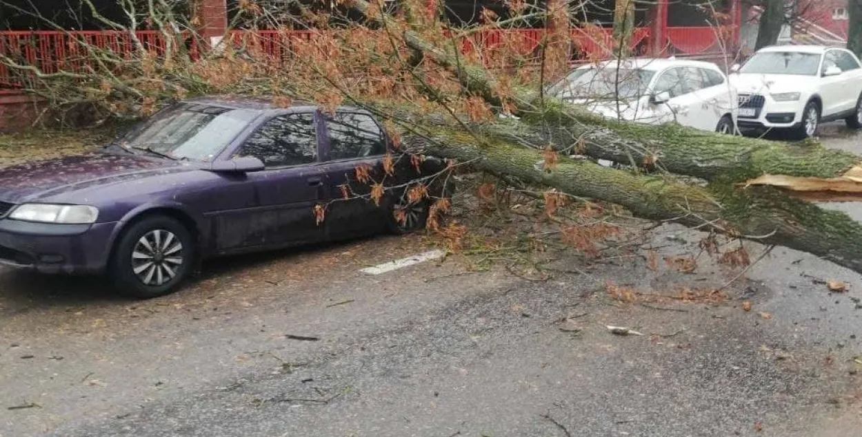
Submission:
<svg viewBox="0 0 862 437">
<path fill-rule="evenodd" d="M 647 86 L 654 75 L 655 71 L 643 69 L 578 69 L 556 83 L 552 92 L 560 98 L 638 99 L 647 94 Z"/>
</svg>

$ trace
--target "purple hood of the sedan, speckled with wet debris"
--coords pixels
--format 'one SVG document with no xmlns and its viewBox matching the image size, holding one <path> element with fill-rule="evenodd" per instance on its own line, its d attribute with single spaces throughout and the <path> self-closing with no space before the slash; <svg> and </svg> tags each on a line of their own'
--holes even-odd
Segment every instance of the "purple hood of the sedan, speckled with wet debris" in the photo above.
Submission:
<svg viewBox="0 0 862 437">
<path fill-rule="evenodd" d="M 0 169 L 0 201 L 20 204 L 184 169 L 179 162 L 95 152 Z"/>
</svg>

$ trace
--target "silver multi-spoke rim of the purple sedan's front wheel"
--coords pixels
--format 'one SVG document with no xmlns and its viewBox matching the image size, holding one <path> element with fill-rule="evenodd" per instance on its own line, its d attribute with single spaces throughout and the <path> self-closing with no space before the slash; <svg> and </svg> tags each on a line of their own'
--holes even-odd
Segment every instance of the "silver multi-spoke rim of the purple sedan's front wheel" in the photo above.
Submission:
<svg viewBox="0 0 862 437">
<path fill-rule="evenodd" d="M 177 276 L 183 265 L 183 243 L 171 231 L 144 234 L 132 251 L 132 271 L 145 286 L 161 286 Z"/>
</svg>

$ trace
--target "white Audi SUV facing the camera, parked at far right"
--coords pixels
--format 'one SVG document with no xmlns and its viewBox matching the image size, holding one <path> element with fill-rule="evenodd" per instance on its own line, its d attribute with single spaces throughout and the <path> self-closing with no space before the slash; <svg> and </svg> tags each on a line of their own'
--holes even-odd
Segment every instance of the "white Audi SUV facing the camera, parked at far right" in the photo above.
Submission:
<svg viewBox="0 0 862 437">
<path fill-rule="evenodd" d="M 788 129 L 811 137 L 824 121 L 844 119 L 853 129 L 862 127 L 862 68 L 849 50 L 765 47 L 731 71 L 740 128 Z"/>
</svg>

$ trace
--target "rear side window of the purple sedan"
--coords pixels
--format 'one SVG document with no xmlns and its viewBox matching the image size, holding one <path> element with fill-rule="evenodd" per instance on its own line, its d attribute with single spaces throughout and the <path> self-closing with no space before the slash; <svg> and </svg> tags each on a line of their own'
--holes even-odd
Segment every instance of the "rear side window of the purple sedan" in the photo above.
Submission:
<svg viewBox="0 0 862 437">
<path fill-rule="evenodd" d="M 380 126 L 367 114 L 337 113 L 327 118 L 329 158 L 373 157 L 386 152 Z"/>
</svg>

